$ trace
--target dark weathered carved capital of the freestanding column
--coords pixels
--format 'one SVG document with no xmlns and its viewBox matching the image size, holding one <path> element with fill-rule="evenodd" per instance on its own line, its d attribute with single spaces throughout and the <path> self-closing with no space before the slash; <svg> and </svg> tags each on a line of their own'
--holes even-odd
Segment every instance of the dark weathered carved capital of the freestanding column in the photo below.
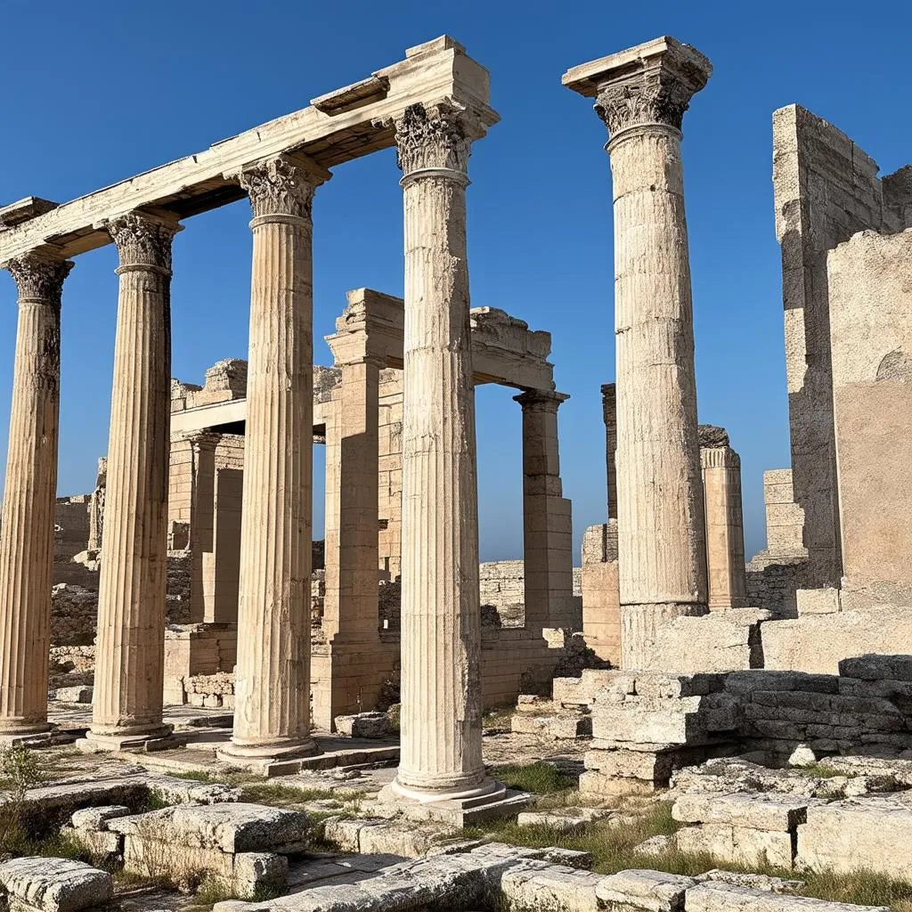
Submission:
<svg viewBox="0 0 912 912">
<path fill-rule="evenodd" d="M 596 114 L 613 137 L 621 130 L 660 124 L 680 130 L 690 98 L 706 85 L 709 60 L 686 46 L 669 47 L 657 57 L 641 61 L 599 87 Z"/>
</svg>

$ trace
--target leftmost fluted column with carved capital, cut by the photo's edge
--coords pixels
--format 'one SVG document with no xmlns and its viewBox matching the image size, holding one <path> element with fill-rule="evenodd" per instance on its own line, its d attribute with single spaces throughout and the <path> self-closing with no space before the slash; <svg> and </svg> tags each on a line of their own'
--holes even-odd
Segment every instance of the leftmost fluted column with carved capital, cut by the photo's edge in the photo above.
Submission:
<svg viewBox="0 0 912 912">
<path fill-rule="evenodd" d="M 5 264 L 19 290 L 19 320 L 0 521 L 0 735 L 50 728 L 60 295 L 72 266 L 38 253 Z"/>
</svg>

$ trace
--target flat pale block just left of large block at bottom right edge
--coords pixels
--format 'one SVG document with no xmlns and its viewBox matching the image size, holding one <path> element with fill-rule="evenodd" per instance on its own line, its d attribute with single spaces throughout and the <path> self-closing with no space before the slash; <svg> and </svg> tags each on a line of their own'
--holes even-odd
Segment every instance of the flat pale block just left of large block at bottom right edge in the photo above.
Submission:
<svg viewBox="0 0 912 912">
<path fill-rule="evenodd" d="M 793 833 L 807 817 L 809 799 L 790 795 L 683 794 L 671 808 L 675 820 L 684 824 L 729 824 Z"/>
</svg>

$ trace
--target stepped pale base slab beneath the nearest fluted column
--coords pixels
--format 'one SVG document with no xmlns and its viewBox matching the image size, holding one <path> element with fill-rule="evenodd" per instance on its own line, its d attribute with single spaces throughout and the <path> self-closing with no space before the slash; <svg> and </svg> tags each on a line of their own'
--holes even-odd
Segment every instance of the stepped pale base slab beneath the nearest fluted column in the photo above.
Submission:
<svg viewBox="0 0 912 912">
<path fill-rule="evenodd" d="M 409 820 L 433 820 L 456 827 L 515 817 L 531 799 L 527 793 L 508 791 L 502 782 L 493 779 L 485 779 L 476 788 L 462 792 L 412 789 L 394 781 L 377 796 L 378 802 L 394 807 Z"/>
</svg>

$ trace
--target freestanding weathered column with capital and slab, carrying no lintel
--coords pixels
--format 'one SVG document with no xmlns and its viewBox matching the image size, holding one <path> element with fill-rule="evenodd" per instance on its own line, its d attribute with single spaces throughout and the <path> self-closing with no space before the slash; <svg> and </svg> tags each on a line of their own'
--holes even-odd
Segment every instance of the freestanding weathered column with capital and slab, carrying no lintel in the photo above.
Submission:
<svg viewBox="0 0 912 912">
<path fill-rule="evenodd" d="M 706 611 L 681 121 L 709 60 L 662 37 L 570 70 L 610 140 L 615 212 L 617 530 L 623 664 Z"/>
</svg>

